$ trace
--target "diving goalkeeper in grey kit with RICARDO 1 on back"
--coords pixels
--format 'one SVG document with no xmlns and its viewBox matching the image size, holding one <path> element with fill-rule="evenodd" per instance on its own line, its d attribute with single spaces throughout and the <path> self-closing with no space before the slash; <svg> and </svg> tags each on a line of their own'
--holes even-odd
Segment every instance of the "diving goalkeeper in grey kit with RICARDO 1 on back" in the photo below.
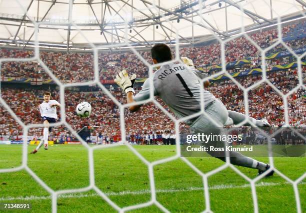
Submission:
<svg viewBox="0 0 306 213">
<path fill-rule="evenodd" d="M 156 44 L 151 49 L 151 56 L 154 64 L 172 60 L 170 48 L 166 44 Z M 152 75 L 154 96 L 159 96 L 169 109 L 178 118 L 190 116 L 200 111 L 200 93 L 203 93 L 204 110 L 206 115 L 202 114 L 195 118 L 185 120 L 184 123 L 189 125 L 193 133 L 210 134 L 218 131 L 224 125 L 239 124 L 245 120 L 245 115 L 229 111 L 222 102 L 215 98 L 210 92 L 201 89 L 198 78 L 203 79 L 207 74 L 193 68 L 193 63 L 188 58 L 181 58 L 185 64 L 169 63 L 158 67 L 158 70 Z M 187 66 L 188 67 L 187 67 Z M 149 80 L 143 83 L 141 91 L 136 95 L 133 89 L 135 74 L 128 76 L 126 70 L 119 72 L 114 81 L 124 90 L 127 103 L 146 100 L 150 96 Z M 207 81 L 208 82 L 208 81 Z M 204 84 L 207 85 L 207 82 Z M 209 84 L 209 82 L 208 82 Z M 141 105 L 133 105 L 129 107 L 130 111 L 139 110 Z M 213 119 L 216 124 L 212 123 L 208 117 Z M 257 127 L 269 127 L 270 125 L 265 119 L 256 120 L 248 117 L 248 119 Z M 244 124 L 251 126 L 250 124 Z M 208 143 L 209 145 L 211 143 Z M 207 144 L 207 145 L 208 145 Z M 224 147 L 224 142 L 219 141 L 213 144 L 216 147 Z M 225 161 L 225 153 L 207 152 L 212 157 Z M 262 174 L 269 169 L 269 165 L 256 161 L 252 158 L 243 156 L 238 152 L 229 152 L 230 163 L 237 166 L 248 167 L 258 170 L 258 174 Z M 273 175 L 273 171 L 268 172 L 265 176 Z"/>
</svg>

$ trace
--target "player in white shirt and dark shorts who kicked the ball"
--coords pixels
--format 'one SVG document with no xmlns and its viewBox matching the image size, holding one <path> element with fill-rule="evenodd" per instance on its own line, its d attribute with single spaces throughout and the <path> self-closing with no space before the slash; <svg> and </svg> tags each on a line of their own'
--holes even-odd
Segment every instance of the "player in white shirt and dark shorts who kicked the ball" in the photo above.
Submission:
<svg viewBox="0 0 306 213">
<path fill-rule="evenodd" d="M 60 107 L 60 104 L 55 100 L 50 100 L 51 94 L 49 92 L 43 93 L 43 102 L 39 105 L 40 116 L 43 121 L 43 141 L 41 140 L 36 149 L 31 154 L 35 154 L 39 148 L 44 144 L 44 149 L 48 149 L 48 137 L 52 127 L 50 123 L 55 123 L 57 119 L 56 107 Z"/>
</svg>

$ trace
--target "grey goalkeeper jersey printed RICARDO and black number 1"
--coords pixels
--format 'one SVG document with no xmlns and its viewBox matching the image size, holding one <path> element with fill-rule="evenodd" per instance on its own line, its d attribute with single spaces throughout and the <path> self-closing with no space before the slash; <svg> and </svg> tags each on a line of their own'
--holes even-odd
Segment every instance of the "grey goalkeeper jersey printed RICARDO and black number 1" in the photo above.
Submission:
<svg viewBox="0 0 306 213">
<path fill-rule="evenodd" d="M 215 100 L 207 90 L 201 91 L 198 78 L 207 77 L 207 74 L 192 67 L 174 63 L 163 65 L 152 77 L 154 96 L 159 96 L 178 118 L 200 111 L 200 92 L 203 93 L 205 106 Z M 149 86 L 149 79 L 146 79 L 142 90 L 134 96 L 134 101 L 148 99 Z M 195 119 L 186 120 L 185 123 L 190 125 Z"/>
</svg>

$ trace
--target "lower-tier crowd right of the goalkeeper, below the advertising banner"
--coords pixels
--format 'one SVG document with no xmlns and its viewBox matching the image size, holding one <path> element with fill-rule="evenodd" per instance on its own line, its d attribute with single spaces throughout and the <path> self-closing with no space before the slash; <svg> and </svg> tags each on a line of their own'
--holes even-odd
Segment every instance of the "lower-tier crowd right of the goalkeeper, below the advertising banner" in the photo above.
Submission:
<svg viewBox="0 0 306 213">
<path fill-rule="evenodd" d="M 303 78 L 306 77 L 303 70 Z M 297 70 L 267 73 L 267 79 L 282 94 L 288 93 L 298 85 Z M 236 79 L 242 86 L 248 87 L 261 80 L 260 75 L 243 76 Z M 243 91 L 231 80 L 214 82 L 207 88 L 219 98 L 227 110 L 244 113 Z M 260 84 L 248 92 L 249 115 L 253 118 L 266 118 L 273 127 L 284 125 L 284 106 L 282 97 L 267 83 Z M 291 126 L 306 127 L 306 93 L 302 88 L 287 98 L 289 123 Z"/>
</svg>

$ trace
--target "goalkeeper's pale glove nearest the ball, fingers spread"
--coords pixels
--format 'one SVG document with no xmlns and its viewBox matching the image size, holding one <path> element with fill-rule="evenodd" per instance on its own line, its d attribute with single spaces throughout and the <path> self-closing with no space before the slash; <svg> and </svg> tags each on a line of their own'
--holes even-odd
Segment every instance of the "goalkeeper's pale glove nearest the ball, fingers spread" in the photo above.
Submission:
<svg viewBox="0 0 306 213">
<path fill-rule="evenodd" d="M 132 76 L 129 77 L 126 70 L 123 69 L 121 72 L 119 72 L 116 75 L 114 82 L 118 84 L 119 87 L 121 87 L 121 89 L 125 92 L 125 94 L 127 94 L 128 92 L 132 92 L 135 94 L 135 91 L 133 89 L 135 79 L 136 79 L 135 74 L 132 74 Z"/>
</svg>

